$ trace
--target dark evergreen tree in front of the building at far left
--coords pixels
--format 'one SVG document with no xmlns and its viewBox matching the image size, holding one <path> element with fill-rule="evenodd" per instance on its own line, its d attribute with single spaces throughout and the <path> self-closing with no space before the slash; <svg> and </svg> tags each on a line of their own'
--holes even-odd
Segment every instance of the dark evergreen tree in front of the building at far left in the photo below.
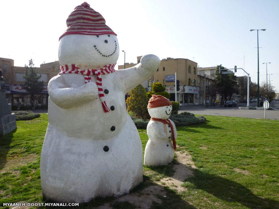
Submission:
<svg viewBox="0 0 279 209">
<path fill-rule="evenodd" d="M 38 70 L 34 67 L 33 60 L 29 60 L 29 67 L 25 64 L 25 86 L 23 87 L 27 92 L 32 94 L 32 107 L 33 107 L 33 96 L 34 94 L 39 94 L 43 89 L 43 81 L 39 81 L 41 75 L 38 76 Z"/>
</svg>

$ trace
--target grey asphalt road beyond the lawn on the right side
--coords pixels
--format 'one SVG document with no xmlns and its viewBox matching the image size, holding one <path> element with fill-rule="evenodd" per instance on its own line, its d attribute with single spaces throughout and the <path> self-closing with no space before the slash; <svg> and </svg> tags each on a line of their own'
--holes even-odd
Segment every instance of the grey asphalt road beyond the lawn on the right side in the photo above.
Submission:
<svg viewBox="0 0 279 209">
<path fill-rule="evenodd" d="M 256 102 L 250 103 L 250 106 L 255 106 Z M 184 105 L 179 110 L 180 112 L 191 112 L 195 115 L 222 115 L 243 118 L 264 118 L 263 110 L 241 110 L 238 107 L 246 107 L 246 104 L 237 104 L 237 107 L 204 107 L 201 105 Z M 272 101 L 270 107 L 273 110 L 265 111 L 265 118 L 272 120 L 279 120 L 279 101 Z"/>
</svg>

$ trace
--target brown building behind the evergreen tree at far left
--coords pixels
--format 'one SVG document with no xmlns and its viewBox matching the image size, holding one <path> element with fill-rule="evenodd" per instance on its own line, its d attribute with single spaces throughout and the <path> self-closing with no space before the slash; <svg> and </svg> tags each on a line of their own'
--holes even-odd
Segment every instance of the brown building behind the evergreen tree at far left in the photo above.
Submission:
<svg viewBox="0 0 279 209">
<path fill-rule="evenodd" d="M 14 66 L 13 59 L 0 58 L 0 66 L 2 69 L 2 76 L 6 79 L 6 98 L 12 104 L 19 109 L 20 107 L 30 108 L 32 101 L 34 107 L 47 108 L 48 105 L 48 93 L 47 84 L 48 81 L 56 75 L 52 67 L 37 67 L 38 75 L 41 75 L 40 81 L 43 81 L 44 89 L 40 94 L 30 94 L 23 89 L 25 84 L 25 67 Z"/>
</svg>

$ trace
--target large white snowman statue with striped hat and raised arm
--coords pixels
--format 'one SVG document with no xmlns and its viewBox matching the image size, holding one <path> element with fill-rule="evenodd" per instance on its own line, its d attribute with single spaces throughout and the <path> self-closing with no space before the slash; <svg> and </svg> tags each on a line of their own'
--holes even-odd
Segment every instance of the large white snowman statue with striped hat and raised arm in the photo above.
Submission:
<svg viewBox="0 0 279 209">
<path fill-rule="evenodd" d="M 143 181 L 142 145 L 125 94 L 152 75 L 152 54 L 114 70 L 116 34 L 86 2 L 60 37 L 61 72 L 48 85 L 49 124 L 41 155 L 42 194 L 55 202 L 89 202 L 128 193 Z"/>
</svg>

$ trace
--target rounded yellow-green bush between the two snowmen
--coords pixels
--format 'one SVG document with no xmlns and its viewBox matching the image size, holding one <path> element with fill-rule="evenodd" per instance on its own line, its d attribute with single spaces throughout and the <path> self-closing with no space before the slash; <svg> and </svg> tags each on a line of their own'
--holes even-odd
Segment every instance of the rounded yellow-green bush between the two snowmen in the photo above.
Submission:
<svg viewBox="0 0 279 209">
<path fill-rule="evenodd" d="M 130 92 L 130 97 L 127 98 L 126 103 L 128 105 L 127 111 L 131 111 L 136 117 L 142 119 L 150 119 L 150 115 L 147 110 L 148 97 L 144 87 L 139 84 Z"/>
</svg>

